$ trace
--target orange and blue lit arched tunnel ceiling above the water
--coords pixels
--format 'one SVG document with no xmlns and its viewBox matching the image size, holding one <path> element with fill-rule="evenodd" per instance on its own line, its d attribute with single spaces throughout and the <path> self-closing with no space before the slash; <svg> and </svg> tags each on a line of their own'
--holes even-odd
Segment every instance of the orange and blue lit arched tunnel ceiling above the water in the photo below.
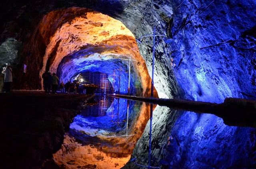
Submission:
<svg viewBox="0 0 256 169">
<path fill-rule="evenodd" d="M 58 28 L 48 32 L 54 24 Z M 134 86 L 134 90 L 136 87 L 145 91 L 148 88 L 146 81 L 149 76 L 134 35 L 120 21 L 86 8 L 68 8 L 46 14 L 38 26 L 38 33 L 48 43 L 40 77 L 44 71 L 50 70 L 56 72 L 60 79 L 68 81 L 82 71 L 99 71 L 111 76 L 118 75 L 121 69 L 123 85 L 120 88 L 125 93 L 127 59 L 131 58 L 135 60 L 131 61 L 131 78 L 142 84 Z M 112 77 L 118 81 L 116 76 Z M 134 80 L 131 82 L 135 83 Z"/>
</svg>

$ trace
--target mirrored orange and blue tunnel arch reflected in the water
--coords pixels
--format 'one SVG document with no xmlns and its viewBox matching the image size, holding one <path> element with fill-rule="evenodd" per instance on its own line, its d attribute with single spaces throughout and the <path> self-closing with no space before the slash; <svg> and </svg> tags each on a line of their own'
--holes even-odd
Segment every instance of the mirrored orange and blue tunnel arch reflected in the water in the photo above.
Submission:
<svg viewBox="0 0 256 169">
<path fill-rule="evenodd" d="M 149 104 L 103 95 L 95 96 L 83 107 L 70 124 L 54 161 L 68 169 L 120 169 L 142 135 Z"/>
</svg>

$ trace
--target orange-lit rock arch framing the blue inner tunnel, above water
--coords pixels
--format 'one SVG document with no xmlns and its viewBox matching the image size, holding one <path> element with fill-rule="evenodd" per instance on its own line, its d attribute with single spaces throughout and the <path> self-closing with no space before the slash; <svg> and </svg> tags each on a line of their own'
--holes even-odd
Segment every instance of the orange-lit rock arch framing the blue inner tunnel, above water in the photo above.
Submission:
<svg viewBox="0 0 256 169">
<path fill-rule="evenodd" d="M 42 47 L 38 41 L 45 45 L 44 55 L 38 56 L 38 61 L 42 61 L 37 63 L 38 66 L 40 65 L 39 77 L 44 71 L 56 72 L 64 57 L 80 50 L 83 52 L 77 59 L 86 58 L 89 61 L 123 60 L 131 56 L 131 59 L 140 62 L 134 65 L 135 72 L 142 79 L 144 92 L 148 94 L 150 91 L 148 86 L 150 77 L 144 59 L 138 51 L 134 35 L 118 20 L 85 8 L 53 11 L 42 18 L 34 37 L 36 40 L 34 45 L 38 48 Z M 38 48 L 30 49 L 34 50 L 32 53 L 36 53 Z M 42 51 L 40 53 L 42 54 Z M 25 59 L 26 62 L 29 62 L 28 59 Z M 30 63 L 27 64 L 30 66 Z M 40 84 L 42 86 L 42 80 Z"/>
</svg>

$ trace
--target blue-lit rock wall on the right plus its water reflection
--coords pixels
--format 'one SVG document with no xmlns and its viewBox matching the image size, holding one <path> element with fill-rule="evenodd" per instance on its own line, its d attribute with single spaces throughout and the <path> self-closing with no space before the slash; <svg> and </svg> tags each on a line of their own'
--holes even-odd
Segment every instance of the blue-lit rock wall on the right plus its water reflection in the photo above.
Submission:
<svg viewBox="0 0 256 169">
<path fill-rule="evenodd" d="M 252 33 L 255 2 L 171 1 L 154 6 L 158 14 L 151 14 L 153 17 L 148 18 L 148 23 L 159 20 L 158 33 L 168 35 L 166 39 L 157 38 L 156 58 L 169 58 L 172 69 L 168 72 L 174 72 L 178 85 L 184 90 L 184 98 L 216 103 L 227 97 L 255 100 L 256 41 Z M 160 65 L 166 69 L 159 63 L 156 63 L 156 70 Z M 164 81 L 171 76 L 157 77 Z M 172 83 L 167 84 L 172 90 L 169 85 Z M 158 85 L 156 89 L 159 91 Z M 151 165 L 253 168 L 256 166 L 255 131 L 254 128 L 226 126 L 214 115 L 157 108 L 153 116 Z M 149 123 L 131 157 L 146 166 L 148 133 Z M 129 167 L 140 168 L 134 161 L 124 168 Z"/>
</svg>

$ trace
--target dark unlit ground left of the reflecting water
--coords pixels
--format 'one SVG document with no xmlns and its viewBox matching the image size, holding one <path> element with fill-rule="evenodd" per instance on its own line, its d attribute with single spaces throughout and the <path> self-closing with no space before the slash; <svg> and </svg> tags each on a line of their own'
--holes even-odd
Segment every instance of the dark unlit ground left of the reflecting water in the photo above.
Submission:
<svg viewBox="0 0 256 169">
<path fill-rule="evenodd" d="M 85 94 L 0 93 L 0 168 L 41 168 L 58 151 Z M 64 111 L 65 110 L 65 111 Z"/>
</svg>

